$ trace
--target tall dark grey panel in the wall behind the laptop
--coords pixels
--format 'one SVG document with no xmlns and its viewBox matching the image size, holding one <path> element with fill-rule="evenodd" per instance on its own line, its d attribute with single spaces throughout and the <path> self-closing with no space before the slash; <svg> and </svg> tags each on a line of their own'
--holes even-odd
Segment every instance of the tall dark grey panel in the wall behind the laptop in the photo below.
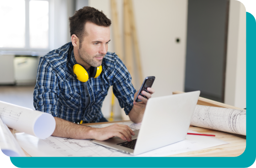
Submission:
<svg viewBox="0 0 256 168">
<path fill-rule="evenodd" d="M 185 91 L 222 97 L 227 0 L 189 0 Z"/>
</svg>

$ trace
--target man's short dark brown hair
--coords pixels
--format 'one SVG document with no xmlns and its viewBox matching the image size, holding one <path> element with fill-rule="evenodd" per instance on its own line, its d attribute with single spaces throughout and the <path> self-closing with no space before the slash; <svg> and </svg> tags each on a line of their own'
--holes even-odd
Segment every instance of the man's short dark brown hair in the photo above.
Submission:
<svg viewBox="0 0 256 168">
<path fill-rule="evenodd" d="M 83 35 L 86 35 L 85 23 L 87 21 L 98 26 L 109 27 L 111 25 L 111 20 L 107 18 L 102 10 L 99 11 L 89 6 L 76 10 L 74 16 L 69 17 L 70 36 L 75 34 L 78 37 L 80 44 L 83 42 Z"/>
</svg>

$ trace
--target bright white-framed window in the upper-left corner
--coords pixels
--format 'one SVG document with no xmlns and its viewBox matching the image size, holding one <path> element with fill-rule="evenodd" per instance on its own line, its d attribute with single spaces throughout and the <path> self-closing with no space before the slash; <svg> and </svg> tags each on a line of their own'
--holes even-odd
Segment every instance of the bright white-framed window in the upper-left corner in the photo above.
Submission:
<svg viewBox="0 0 256 168">
<path fill-rule="evenodd" d="M 49 1 L 8 0 L 0 8 L 0 50 L 49 49 Z"/>
</svg>

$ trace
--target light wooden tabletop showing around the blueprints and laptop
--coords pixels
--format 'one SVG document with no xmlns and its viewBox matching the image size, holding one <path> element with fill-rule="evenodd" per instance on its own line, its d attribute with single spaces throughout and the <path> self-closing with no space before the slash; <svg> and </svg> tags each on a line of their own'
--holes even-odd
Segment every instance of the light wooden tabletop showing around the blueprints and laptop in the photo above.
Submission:
<svg viewBox="0 0 256 168">
<path fill-rule="evenodd" d="M 175 91 L 172 94 L 181 94 L 183 92 Z M 220 102 L 216 102 L 213 100 L 209 100 L 203 97 L 199 97 L 197 105 L 208 105 L 215 107 L 223 107 L 223 108 L 233 108 L 240 109 L 238 107 L 232 105 L 226 105 Z M 243 110 L 243 109 L 242 109 Z M 112 121 L 112 122 L 103 122 L 103 123 L 89 123 L 83 124 L 85 126 L 89 125 L 98 125 L 98 124 L 108 124 L 108 123 L 118 123 L 124 121 Z M 11 132 L 15 134 L 15 131 L 10 129 Z M 244 153 L 246 148 L 246 138 L 245 136 L 240 137 L 240 135 L 232 135 L 222 131 L 216 131 L 207 128 L 201 128 L 196 126 L 190 126 L 189 130 L 196 131 L 202 134 L 212 134 L 215 135 L 216 138 L 224 140 L 230 144 L 224 144 L 216 147 L 210 147 L 201 150 L 195 150 L 191 152 L 185 152 L 181 154 L 171 155 L 168 157 L 237 157 Z M 24 151 L 24 150 L 23 150 Z M 27 157 L 31 157 L 26 151 L 24 151 Z"/>
</svg>

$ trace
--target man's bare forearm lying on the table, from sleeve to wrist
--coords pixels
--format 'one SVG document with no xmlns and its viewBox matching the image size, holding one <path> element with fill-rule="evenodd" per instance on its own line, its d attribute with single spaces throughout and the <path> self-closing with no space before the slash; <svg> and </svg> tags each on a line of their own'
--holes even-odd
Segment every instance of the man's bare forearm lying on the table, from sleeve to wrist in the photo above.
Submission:
<svg viewBox="0 0 256 168">
<path fill-rule="evenodd" d="M 74 124 L 58 117 L 54 117 L 54 119 L 56 121 L 56 127 L 52 136 L 74 139 L 93 139 L 92 133 L 94 128 Z"/>
</svg>

